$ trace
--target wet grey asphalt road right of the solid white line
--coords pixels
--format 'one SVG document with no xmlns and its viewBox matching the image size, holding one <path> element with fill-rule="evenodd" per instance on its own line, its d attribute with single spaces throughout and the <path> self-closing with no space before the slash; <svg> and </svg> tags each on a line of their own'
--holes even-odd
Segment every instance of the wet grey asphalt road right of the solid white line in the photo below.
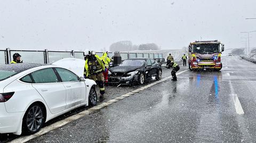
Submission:
<svg viewBox="0 0 256 143">
<path fill-rule="evenodd" d="M 29 142 L 256 142 L 256 64 L 237 56 L 222 63 L 221 72 L 184 72 L 177 82 L 159 83 Z M 108 87 L 103 102 L 134 88 Z"/>
</svg>

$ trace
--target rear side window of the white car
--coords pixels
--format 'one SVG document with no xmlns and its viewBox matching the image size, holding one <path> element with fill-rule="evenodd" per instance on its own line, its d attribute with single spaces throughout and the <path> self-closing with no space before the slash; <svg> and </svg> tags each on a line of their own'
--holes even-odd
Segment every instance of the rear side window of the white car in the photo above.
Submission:
<svg viewBox="0 0 256 143">
<path fill-rule="evenodd" d="M 31 73 L 35 83 L 59 82 L 52 68 L 42 69 Z"/>
</svg>

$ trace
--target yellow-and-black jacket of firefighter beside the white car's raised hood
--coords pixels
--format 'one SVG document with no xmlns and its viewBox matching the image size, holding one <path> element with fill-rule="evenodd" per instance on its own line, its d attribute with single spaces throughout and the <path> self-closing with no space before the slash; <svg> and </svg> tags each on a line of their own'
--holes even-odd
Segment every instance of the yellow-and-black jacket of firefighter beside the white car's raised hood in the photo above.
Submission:
<svg viewBox="0 0 256 143">
<path fill-rule="evenodd" d="M 101 61 L 101 58 L 97 54 L 94 56 L 96 57 L 97 62 L 99 63 L 100 67 L 95 65 L 95 66 L 97 66 L 97 71 L 94 71 L 93 73 L 105 71 L 105 66 L 104 66 L 103 62 Z M 90 70 L 92 70 L 92 69 L 89 69 L 89 66 L 90 66 L 89 64 L 92 64 L 92 62 L 91 61 L 89 62 L 88 59 L 86 59 L 85 66 L 84 66 L 84 68 L 85 68 L 84 74 L 86 75 L 86 77 L 88 77 L 88 75 L 90 75 L 90 72 L 91 72 Z"/>
</svg>

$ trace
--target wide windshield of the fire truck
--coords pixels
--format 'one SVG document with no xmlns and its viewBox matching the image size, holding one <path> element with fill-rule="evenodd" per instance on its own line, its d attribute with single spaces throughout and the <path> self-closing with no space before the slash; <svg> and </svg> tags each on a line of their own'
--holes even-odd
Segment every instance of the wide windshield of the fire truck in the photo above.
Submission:
<svg viewBox="0 0 256 143">
<path fill-rule="evenodd" d="M 197 45 L 194 45 L 193 53 L 197 53 L 197 54 L 219 53 L 219 44 L 197 44 Z"/>
</svg>

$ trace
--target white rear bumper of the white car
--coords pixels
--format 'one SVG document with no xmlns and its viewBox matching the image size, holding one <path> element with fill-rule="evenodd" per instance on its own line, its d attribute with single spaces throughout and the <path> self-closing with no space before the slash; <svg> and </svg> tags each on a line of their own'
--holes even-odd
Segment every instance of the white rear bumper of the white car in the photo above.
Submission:
<svg viewBox="0 0 256 143">
<path fill-rule="evenodd" d="M 0 133 L 21 133 L 21 123 L 25 112 L 7 113 L 4 103 L 0 103 Z"/>
</svg>

